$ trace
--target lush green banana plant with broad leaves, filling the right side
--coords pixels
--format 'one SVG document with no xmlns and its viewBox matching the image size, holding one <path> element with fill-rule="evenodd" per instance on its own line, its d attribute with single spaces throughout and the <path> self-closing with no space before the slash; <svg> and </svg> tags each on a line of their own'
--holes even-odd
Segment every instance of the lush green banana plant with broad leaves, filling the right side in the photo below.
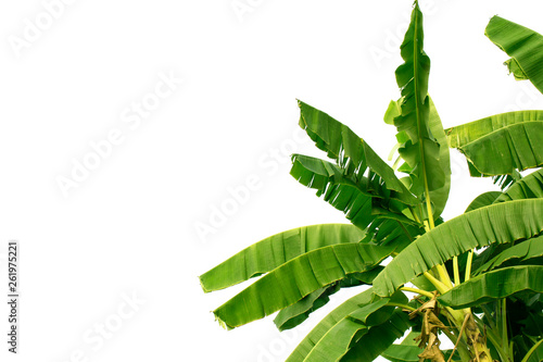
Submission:
<svg viewBox="0 0 543 362">
<path fill-rule="evenodd" d="M 543 90 L 541 35 L 497 16 L 485 34 L 512 57 L 506 65 L 516 79 Z M 206 292 L 256 278 L 214 311 L 216 320 L 231 329 L 278 312 L 275 324 L 285 330 L 330 295 L 362 287 L 287 361 L 542 361 L 543 111 L 444 129 L 428 93 L 417 1 L 400 51 L 401 97 L 384 114 L 397 130 L 394 165 L 299 101 L 299 125 L 328 160 L 294 154 L 291 174 L 350 223 L 274 235 L 201 275 Z M 502 190 L 444 221 L 450 148 L 466 155 L 471 176 L 494 177 Z M 443 339 L 454 348 L 440 348 Z"/>
</svg>

